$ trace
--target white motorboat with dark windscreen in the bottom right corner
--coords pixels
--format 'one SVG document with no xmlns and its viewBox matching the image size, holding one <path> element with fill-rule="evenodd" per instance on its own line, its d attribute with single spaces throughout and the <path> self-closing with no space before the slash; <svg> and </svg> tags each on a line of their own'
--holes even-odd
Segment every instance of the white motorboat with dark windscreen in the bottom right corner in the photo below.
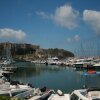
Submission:
<svg viewBox="0 0 100 100">
<path fill-rule="evenodd" d="M 100 100 L 100 89 L 89 88 L 74 90 L 70 95 L 70 100 Z"/>
</svg>

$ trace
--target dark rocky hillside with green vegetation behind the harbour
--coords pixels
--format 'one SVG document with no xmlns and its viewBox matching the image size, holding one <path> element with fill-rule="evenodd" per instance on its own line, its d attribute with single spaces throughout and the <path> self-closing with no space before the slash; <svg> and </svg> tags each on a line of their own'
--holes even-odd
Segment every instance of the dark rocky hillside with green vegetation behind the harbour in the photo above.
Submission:
<svg viewBox="0 0 100 100">
<path fill-rule="evenodd" d="M 0 43 L 0 57 L 6 57 L 7 50 L 11 51 L 11 55 L 15 59 L 47 59 L 48 57 L 58 57 L 64 59 L 73 57 L 74 54 L 70 51 L 58 48 L 42 49 L 38 45 L 18 44 L 18 43 Z"/>
</svg>

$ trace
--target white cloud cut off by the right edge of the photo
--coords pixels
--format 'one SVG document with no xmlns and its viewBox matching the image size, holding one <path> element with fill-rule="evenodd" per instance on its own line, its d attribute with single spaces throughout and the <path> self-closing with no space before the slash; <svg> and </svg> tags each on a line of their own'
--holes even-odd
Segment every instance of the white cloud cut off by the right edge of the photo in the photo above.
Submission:
<svg viewBox="0 0 100 100">
<path fill-rule="evenodd" d="M 100 11 L 84 10 L 83 20 L 100 35 Z"/>
</svg>

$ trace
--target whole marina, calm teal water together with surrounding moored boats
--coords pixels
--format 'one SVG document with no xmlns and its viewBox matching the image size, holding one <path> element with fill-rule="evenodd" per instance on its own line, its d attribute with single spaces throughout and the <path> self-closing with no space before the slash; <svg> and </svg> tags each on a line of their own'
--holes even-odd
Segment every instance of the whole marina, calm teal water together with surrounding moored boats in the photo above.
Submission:
<svg viewBox="0 0 100 100">
<path fill-rule="evenodd" d="M 47 60 L 9 63 L 7 59 L 1 61 L 4 62 L 0 63 L 1 96 L 26 100 L 76 100 L 75 98 L 95 100 L 100 98 L 98 57 L 69 57 L 63 60 L 52 57 Z M 90 91 L 86 94 L 92 87 L 96 87 L 92 90 L 93 93 Z"/>
</svg>

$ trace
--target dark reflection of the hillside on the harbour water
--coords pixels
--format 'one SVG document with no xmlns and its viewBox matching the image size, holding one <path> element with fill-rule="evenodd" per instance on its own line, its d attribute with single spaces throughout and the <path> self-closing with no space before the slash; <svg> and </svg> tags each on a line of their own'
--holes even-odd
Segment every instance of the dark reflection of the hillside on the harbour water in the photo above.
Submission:
<svg viewBox="0 0 100 100">
<path fill-rule="evenodd" d="M 59 68 L 59 66 L 45 66 L 45 65 L 41 65 L 41 64 L 30 64 L 27 66 L 27 63 L 25 66 L 23 66 L 23 63 L 21 64 L 21 66 L 19 66 L 16 70 L 16 73 L 13 74 L 14 77 L 16 78 L 24 78 L 24 77 L 31 77 L 31 76 L 40 76 L 42 73 L 44 72 L 59 72 L 60 70 L 62 70 L 62 68 Z"/>
</svg>

